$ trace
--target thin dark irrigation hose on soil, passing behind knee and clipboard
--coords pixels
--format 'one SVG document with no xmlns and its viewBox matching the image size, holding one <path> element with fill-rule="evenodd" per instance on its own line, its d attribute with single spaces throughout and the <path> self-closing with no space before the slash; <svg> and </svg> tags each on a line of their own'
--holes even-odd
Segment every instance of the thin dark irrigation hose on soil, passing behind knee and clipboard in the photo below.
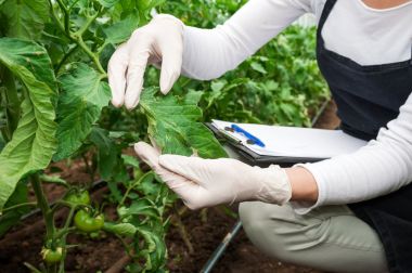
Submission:
<svg viewBox="0 0 412 273">
<path fill-rule="evenodd" d="M 311 127 L 313 127 L 318 122 L 319 118 L 322 116 L 323 112 L 326 109 L 329 103 L 330 103 L 330 100 L 326 100 L 323 102 L 323 104 L 320 107 L 320 109 L 318 110 L 317 115 L 311 120 Z M 215 268 L 216 263 L 223 256 L 229 244 L 237 235 L 241 227 L 242 227 L 242 222 L 241 222 L 241 220 L 237 220 L 237 222 L 234 224 L 232 231 L 229 232 L 224 236 L 223 240 L 219 244 L 219 246 L 211 253 L 210 258 L 207 260 L 207 262 L 205 263 L 205 265 L 201 270 L 201 273 L 209 273 Z"/>
</svg>

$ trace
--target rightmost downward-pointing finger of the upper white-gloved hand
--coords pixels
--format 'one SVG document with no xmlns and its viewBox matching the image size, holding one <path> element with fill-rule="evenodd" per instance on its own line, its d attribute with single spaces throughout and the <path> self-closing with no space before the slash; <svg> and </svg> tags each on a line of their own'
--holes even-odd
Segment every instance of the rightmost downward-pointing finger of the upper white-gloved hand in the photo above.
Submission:
<svg viewBox="0 0 412 273">
<path fill-rule="evenodd" d="M 162 52 L 160 91 L 167 94 L 181 73 L 183 44 L 182 41 L 172 44 L 163 41 L 158 47 Z"/>
</svg>

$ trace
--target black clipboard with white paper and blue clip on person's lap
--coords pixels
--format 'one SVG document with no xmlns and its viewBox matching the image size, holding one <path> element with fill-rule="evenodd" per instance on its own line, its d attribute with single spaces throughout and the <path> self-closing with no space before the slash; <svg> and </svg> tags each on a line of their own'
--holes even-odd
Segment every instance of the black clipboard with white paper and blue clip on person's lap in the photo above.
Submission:
<svg viewBox="0 0 412 273">
<path fill-rule="evenodd" d="M 227 121 L 220 121 L 217 120 L 218 122 L 227 122 Z M 216 120 L 214 120 L 216 122 Z M 227 122 L 228 123 L 228 122 Z M 236 123 L 239 125 L 239 123 Z M 216 125 L 213 122 L 206 123 L 206 126 L 215 133 L 215 135 L 220 140 L 223 141 L 229 147 L 231 147 L 235 153 L 241 157 L 242 160 L 249 165 L 254 166 L 260 166 L 260 167 L 267 167 L 271 164 L 276 164 L 276 165 L 282 165 L 282 166 L 292 166 L 298 162 L 316 162 L 316 161 L 321 161 L 324 159 L 330 158 L 331 156 L 310 156 L 310 151 L 306 151 L 306 155 L 299 156 L 299 152 L 294 152 L 292 153 L 293 155 L 288 155 L 287 151 L 284 151 L 283 154 L 281 155 L 273 155 L 272 154 L 262 154 L 261 151 L 257 148 L 250 148 L 250 145 L 246 145 L 244 142 L 240 140 L 235 140 L 234 138 L 230 136 L 230 133 L 222 132 L 221 128 L 217 128 Z M 335 131 L 335 130 L 323 130 L 323 129 L 309 129 L 309 128 L 292 128 L 292 127 L 276 127 L 273 126 L 260 126 L 260 125 L 239 125 L 241 127 L 245 127 L 247 129 L 249 128 L 255 128 L 255 129 L 275 129 L 275 130 L 286 130 L 287 132 L 298 132 L 299 136 L 295 136 L 296 139 L 301 139 L 307 135 L 320 135 L 321 138 L 325 138 L 325 141 L 329 142 L 329 145 L 340 145 L 344 146 L 345 148 L 342 151 L 335 151 L 335 153 L 345 153 L 346 150 L 350 152 L 355 152 L 357 148 L 363 146 L 366 144 L 365 141 L 355 139 L 353 136 L 346 135 L 342 131 Z M 274 131 L 275 131 L 274 130 Z M 257 130 L 259 131 L 259 130 Z M 261 131 L 261 130 L 260 130 Z M 252 131 L 249 131 L 252 132 Z M 254 133 L 254 132 L 252 132 Z M 261 133 L 261 132 L 260 132 Z M 257 134 L 257 136 L 260 136 Z M 271 136 L 272 138 L 272 136 Z M 268 139 L 268 138 L 267 138 Z M 273 139 L 275 139 L 275 135 L 273 135 Z M 336 139 L 336 140 L 335 140 Z M 285 141 L 280 140 L 280 141 Z M 265 141 L 266 143 L 268 140 Z M 292 138 L 293 142 L 293 138 Z M 282 144 L 282 142 L 280 142 Z M 350 144 L 350 145 L 348 145 Z M 317 146 L 318 145 L 318 146 Z M 311 147 L 312 150 L 322 150 L 321 146 L 319 146 L 320 143 L 314 143 L 314 146 Z M 255 151 L 254 151 L 255 150 Z M 309 148 L 310 150 L 310 148 Z M 257 151 L 260 153 L 257 153 Z M 308 154 L 309 153 L 309 154 Z M 327 154 L 327 153 L 326 153 Z"/>
</svg>

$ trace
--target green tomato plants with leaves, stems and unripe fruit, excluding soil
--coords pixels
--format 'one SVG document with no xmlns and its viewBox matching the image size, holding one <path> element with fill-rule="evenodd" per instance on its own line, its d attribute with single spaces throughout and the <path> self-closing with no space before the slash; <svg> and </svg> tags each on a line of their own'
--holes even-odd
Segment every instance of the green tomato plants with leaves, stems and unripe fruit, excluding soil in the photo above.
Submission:
<svg viewBox="0 0 412 273">
<path fill-rule="evenodd" d="M 46 224 L 43 271 L 64 272 L 72 251 L 67 236 L 78 231 L 121 239 L 131 272 L 165 271 L 176 196 L 125 150 L 152 139 L 164 153 L 218 158 L 226 153 L 202 121 L 307 125 L 308 112 L 326 98 L 309 53 L 314 31 L 292 27 L 223 78 L 181 78 L 166 96 L 157 94 L 158 72 L 151 68 L 140 107 L 129 113 L 108 105 L 107 62 L 154 9 L 188 25 L 214 27 L 245 2 L 0 0 L 0 235 L 36 206 Z M 44 174 L 52 162 L 72 159 L 85 165 L 90 182 L 106 182 L 103 203 L 115 217 L 89 213 L 104 211 L 91 202 L 92 183 L 72 185 Z M 64 186 L 64 197 L 49 203 L 43 183 Z M 54 216 L 63 207 L 69 212 L 57 224 Z"/>
</svg>

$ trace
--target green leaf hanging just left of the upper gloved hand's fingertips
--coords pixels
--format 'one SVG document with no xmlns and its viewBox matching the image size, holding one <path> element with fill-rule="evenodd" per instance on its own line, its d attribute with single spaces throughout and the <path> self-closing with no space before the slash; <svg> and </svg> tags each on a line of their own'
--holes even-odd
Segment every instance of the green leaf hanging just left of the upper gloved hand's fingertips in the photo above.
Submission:
<svg viewBox="0 0 412 273">
<path fill-rule="evenodd" d="M 72 72 L 60 77 L 63 92 L 59 98 L 59 150 L 54 160 L 69 157 L 81 146 L 111 99 L 102 75 L 86 64 L 74 66 Z"/>
</svg>

